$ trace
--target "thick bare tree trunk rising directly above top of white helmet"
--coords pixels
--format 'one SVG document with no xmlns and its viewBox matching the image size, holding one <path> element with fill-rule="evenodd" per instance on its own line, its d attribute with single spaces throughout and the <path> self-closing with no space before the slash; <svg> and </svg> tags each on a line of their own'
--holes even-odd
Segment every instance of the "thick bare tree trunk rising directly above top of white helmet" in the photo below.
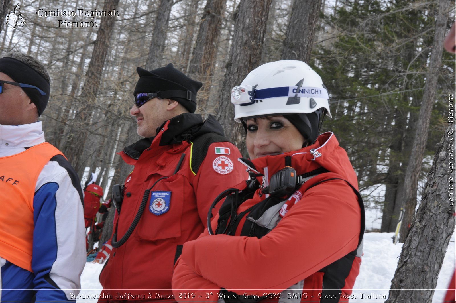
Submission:
<svg viewBox="0 0 456 303">
<path fill-rule="evenodd" d="M 313 46 L 315 27 L 320 15 L 321 0 L 294 0 L 290 21 L 285 35 L 282 60 L 293 59 L 309 62 Z"/>
</svg>

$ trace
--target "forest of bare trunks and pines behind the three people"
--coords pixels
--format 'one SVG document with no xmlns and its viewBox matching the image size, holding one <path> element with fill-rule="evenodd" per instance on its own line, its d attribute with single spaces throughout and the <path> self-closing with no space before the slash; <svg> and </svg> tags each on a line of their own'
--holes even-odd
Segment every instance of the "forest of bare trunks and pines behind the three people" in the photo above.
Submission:
<svg viewBox="0 0 456 303">
<path fill-rule="evenodd" d="M 0 2 L 3 16 L 15 10 L 16 1 Z M 129 115 L 136 67 L 173 63 L 203 82 L 197 113 L 214 115 L 245 154 L 230 89 L 262 63 L 302 60 L 328 88 L 333 118 L 322 131 L 333 131 L 347 150 L 366 207 L 383 210 L 380 231 L 394 231 L 406 209 L 404 242 L 432 158 L 454 127 L 446 99 L 455 93 L 455 55 L 443 50 L 454 0 L 22 0 L 20 6 L 11 15 L 19 26 L 1 27 L 1 52 L 25 52 L 47 67 L 46 139 L 83 180 L 97 172 L 110 193 L 131 171 L 116 152 L 139 139 Z M 119 16 L 91 18 L 80 10 Z M 75 16 L 56 16 L 63 12 Z M 442 229 L 454 229 L 451 211 L 436 213 Z M 437 243 L 443 252 L 449 239 Z"/>
</svg>

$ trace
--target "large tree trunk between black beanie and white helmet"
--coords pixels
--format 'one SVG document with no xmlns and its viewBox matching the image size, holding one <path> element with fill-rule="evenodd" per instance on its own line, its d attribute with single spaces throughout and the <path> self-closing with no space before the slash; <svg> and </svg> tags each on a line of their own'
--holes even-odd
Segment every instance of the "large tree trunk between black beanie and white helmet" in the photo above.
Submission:
<svg viewBox="0 0 456 303">
<path fill-rule="evenodd" d="M 270 6 L 271 0 L 244 0 L 239 4 L 227 70 L 220 90 L 217 118 L 227 138 L 238 146 L 242 154 L 245 154 L 245 132 L 240 123 L 233 122 L 234 107 L 230 102 L 230 93 L 233 86 L 240 84 L 261 61 Z"/>
</svg>

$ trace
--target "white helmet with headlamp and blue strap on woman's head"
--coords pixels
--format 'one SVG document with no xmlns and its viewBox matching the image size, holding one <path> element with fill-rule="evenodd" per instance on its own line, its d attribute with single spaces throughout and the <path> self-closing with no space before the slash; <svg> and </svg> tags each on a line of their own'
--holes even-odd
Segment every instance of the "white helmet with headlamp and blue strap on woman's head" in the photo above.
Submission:
<svg viewBox="0 0 456 303">
<path fill-rule="evenodd" d="M 329 95 L 320 75 L 297 60 L 265 63 L 231 89 L 234 120 L 285 114 L 311 114 L 324 108 Z"/>
</svg>

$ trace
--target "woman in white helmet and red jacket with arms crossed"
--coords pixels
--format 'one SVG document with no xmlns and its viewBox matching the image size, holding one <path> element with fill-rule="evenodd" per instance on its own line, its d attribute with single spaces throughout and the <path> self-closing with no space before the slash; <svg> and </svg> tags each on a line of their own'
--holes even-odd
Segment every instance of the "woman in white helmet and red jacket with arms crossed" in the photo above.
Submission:
<svg viewBox="0 0 456 303">
<path fill-rule="evenodd" d="M 218 216 L 184 244 L 176 299 L 187 289 L 192 295 L 177 300 L 347 301 L 364 208 L 347 153 L 332 132 L 318 136 L 331 117 L 321 77 L 301 61 L 266 63 L 231 101 L 246 129 L 250 159 L 239 161 L 251 178 L 220 194 Z"/>
</svg>

